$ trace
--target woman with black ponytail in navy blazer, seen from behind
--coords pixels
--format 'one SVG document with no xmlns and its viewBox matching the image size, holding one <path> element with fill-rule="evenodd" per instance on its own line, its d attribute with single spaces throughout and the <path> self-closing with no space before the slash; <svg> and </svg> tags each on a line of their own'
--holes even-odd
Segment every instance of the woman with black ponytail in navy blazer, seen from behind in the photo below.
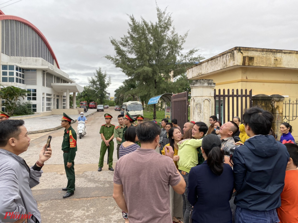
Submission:
<svg viewBox="0 0 298 223">
<path fill-rule="evenodd" d="M 193 223 L 232 223 L 229 200 L 234 188 L 233 170 L 224 163 L 221 140 L 214 134 L 203 138 L 205 161 L 190 169 L 188 201 L 193 205 Z"/>
</svg>

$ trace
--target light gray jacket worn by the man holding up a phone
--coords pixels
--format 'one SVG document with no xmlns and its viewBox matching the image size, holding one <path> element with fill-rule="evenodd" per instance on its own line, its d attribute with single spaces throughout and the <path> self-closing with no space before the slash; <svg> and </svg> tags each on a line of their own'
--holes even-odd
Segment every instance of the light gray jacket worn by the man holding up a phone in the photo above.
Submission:
<svg viewBox="0 0 298 223">
<path fill-rule="evenodd" d="M 36 168 L 34 168 L 36 169 Z M 0 222 L 15 222 L 5 213 L 32 214 L 28 223 L 41 223 L 41 215 L 31 188 L 39 184 L 42 170 L 28 167 L 23 158 L 0 148 Z"/>
</svg>

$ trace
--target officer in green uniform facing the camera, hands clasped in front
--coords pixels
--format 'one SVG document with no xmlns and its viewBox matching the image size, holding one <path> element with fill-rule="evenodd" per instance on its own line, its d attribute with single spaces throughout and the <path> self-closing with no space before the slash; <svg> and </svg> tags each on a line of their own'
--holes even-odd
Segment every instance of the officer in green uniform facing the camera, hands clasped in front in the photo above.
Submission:
<svg viewBox="0 0 298 223">
<path fill-rule="evenodd" d="M 100 128 L 100 136 L 103 140 L 101 142 L 100 147 L 100 157 L 98 162 L 98 171 L 102 170 L 103 167 L 103 158 L 105 157 L 105 152 L 108 151 L 109 157 L 108 157 L 108 163 L 109 163 L 109 170 L 114 171 L 112 165 L 113 165 L 113 152 L 114 152 L 114 128 L 115 125 L 111 124 L 111 120 L 113 116 L 106 113 L 104 114 L 105 117 L 105 124 L 103 124 Z"/>
</svg>

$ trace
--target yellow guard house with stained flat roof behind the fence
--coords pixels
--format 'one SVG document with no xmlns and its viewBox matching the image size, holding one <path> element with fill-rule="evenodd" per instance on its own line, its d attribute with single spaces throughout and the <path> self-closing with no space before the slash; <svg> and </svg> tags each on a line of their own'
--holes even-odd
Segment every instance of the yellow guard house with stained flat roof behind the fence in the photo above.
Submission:
<svg viewBox="0 0 298 223">
<path fill-rule="evenodd" d="M 288 121 L 297 129 L 298 51 L 234 47 L 194 65 L 187 70 L 187 77 L 191 80 L 201 79 L 192 84 L 194 91 L 192 90 L 191 96 L 194 100 L 196 100 L 195 97 L 201 97 L 203 94 L 212 101 L 214 86 L 209 95 L 197 90 L 205 87 L 204 89 L 209 91 L 212 88 L 212 84 L 209 83 L 211 80 L 215 83 L 216 91 L 252 89 L 252 95 L 283 95 L 285 97 L 284 121 Z M 285 106 L 289 99 L 291 102 L 294 101 L 294 104 L 290 105 L 291 114 L 286 114 Z M 214 113 L 214 105 L 216 105 L 214 99 L 212 103 L 211 114 Z M 287 107 L 288 111 L 289 107 Z M 298 129 L 294 128 L 292 134 L 297 139 Z"/>
</svg>

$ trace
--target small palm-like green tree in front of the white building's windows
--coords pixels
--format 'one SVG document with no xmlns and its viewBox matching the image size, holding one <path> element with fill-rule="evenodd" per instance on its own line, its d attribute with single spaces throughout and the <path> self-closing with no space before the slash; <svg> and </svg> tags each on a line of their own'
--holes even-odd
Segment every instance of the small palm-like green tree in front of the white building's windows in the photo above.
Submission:
<svg viewBox="0 0 298 223">
<path fill-rule="evenodd" d="M 17 106 L 17 102 L 20 98 L 27 97 L 27 90 L 19 87 L 8 86 L 0 90 L 0 98 L 5 100 L 4 105 L 6 107 L 7 114 L 12 116 Z"/>
</svg>

